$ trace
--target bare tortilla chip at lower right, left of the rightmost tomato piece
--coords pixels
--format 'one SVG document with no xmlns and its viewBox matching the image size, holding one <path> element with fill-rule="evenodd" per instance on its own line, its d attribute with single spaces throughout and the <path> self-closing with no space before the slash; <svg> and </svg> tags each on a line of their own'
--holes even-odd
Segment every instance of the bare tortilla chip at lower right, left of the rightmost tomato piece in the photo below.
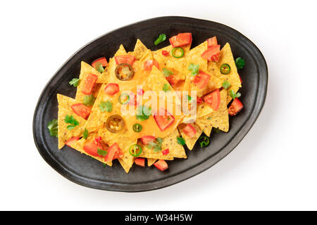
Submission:
<svg viewBox="0 0 317 225">
<path fill-rule="evenodd" d="M 229 131 L 229 116 L 227 108 L 227 91 L 223 89 L 220 91 L 220 105 L 217 111 L 206 115 L 201 118 L 197 118 L 197 124 L 201 129 L 204 129 L 207 133 L 211 131 L 212 127 L 216 127 L 222 131 Z M 210 131 L 209 131 L 210 130 Z M 205 132 L 205 134 L 206 134 Z M 208 134 L 207 134 L 208 135 Z"/>
</svg>

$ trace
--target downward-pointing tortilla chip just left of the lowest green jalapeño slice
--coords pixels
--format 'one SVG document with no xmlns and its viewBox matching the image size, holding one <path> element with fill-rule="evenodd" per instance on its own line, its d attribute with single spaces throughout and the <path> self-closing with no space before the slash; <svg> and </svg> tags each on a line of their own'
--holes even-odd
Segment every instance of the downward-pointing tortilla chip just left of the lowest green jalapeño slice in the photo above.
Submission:
<svg viewBox="0 0 317 225">
<path fill-rule="evenodd" d="M 120 165 L 125 169 L 125 172 L 128 174 L 130 168 L 135 162 L 135 158 L 130 154 L 130 146 L 137 143 L 137 140 L 131 141 L 127 136 L 127 131 L 122 130 L 116 134 L 111 133 L 105 127 L 100 129 L 98 134 L 101 136 L 101 139 L 108 143 L 108 146 L 111 146 L 113 143 L 118 143 L 118 146 L 123 152 L 123 158 L 118 159 Z"/>
</svg>

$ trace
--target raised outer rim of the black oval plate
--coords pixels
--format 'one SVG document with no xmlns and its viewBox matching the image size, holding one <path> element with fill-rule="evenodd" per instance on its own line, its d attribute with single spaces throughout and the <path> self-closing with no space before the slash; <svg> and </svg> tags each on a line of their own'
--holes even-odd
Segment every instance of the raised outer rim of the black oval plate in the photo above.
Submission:
<svg viewBox="0 0 317 225">
<path fill-rule="evenodd" d="M 42 127 L 39 126 L 39 129 L 37 129 L 37 122 L 40 119 L 38 117 L 39 109 L 40 109 L 40 102 L 42 101 L 42 98 L 44 97 L 44 94 L 46 93 L 46 88 L 51 83 L 51 80 L 58 75 L 59 72 L 64 68 L 64 66 L 72 59 L 75 55 L 77 55 L 78 52 L 80 52 L 82 49 L 85 49 L 89 44 L 92 44 L 97 39 L 100 39 L 101 37 L 104 37 L 107 34 L 111 34 L 113 32 L 118 32 L 120 30 L 125 29 L 126 27 L 131 27 L 133 25 L 138 25 L 142 23 L 149 23 L 153 22 L 155 20 L 181 20 L 182 22 L 188 21 L 195 21 L 196 23 L 213 23 L 220 27 L 226 27 L 228 30 L 232 32 L 232 34 L 239 35 L 240 37 L 243 37 L 245 40 L 244 42 L 249 44 L 249 47 L 251 47 L 252 50 L 256 51 L 257 54 L 255 57 L 256 63 L 261 64 L 261 70 L 259 70 L 259 89 L 256 92 L 256 98 L 259 99 L 259 101 L 256 101 L 254 103 L 254 108 L 251 110 L 251 116 L 249 119 L 244 122 L 242 125 L 242 128 L 237 131 L 237 134 L 233 138 L 237 136 L 237 139 L 234 141 L 230 141 L 226 146 L 224 146 L 221 150 L 219 150 L 216 154 L 214 154 L 212 157 L 207 158 L 204 162 L 202 162 L 200 165 L 197 165 L 193 167 L 192 169 L 185 170 L 183 172 L 180 172 L 179 174 L 175 174 L 173 176 L 167 177 L 165 179 L 159 179 L 157 181 L 149 181 L 146 183 L 141 184 L 120 184 L 120 183 L 114 183 L 109 181 L 98 181 L 96 179 L 89 179 L 87 177 L 82 178 L 82 176 L 79 176 L 75 174 L 74 172 L 70 171 L 70 169 L 63 167 L 61 163 L 59 163 L 57 160 L 55 160 L 50 154 L 49 151 L 46 150 L 45 145 L 41 146 L 41 143 L 39 143 L 39 139 L 41 137 L 37 137 L 38 133 L 41 133 Z M 257 65 L 257 68 L 259 68 L 259 65 Z M 235 149 L 235 147 L 244 139 L 244 136 L 247 135 L 251 127 L 254 125 L 256 120 L 258 119 L 259 115 L 261 114 L 261 110 L 263 109 L 263 106 L 266 101 L 266 94 L 268 89 L 268 67 L 266 60 L 259 50 L 259 48 L 247 37 L 244 36 L 244 34 L 241 34 L 237 30 L 233 29 L 232 27 L 228 27 L 227 25 L 223 25 L 221 23 L 216 23 L 211 20 L 202 20 L 199 18 L 189 18 L 189 17 L 183 17 L 183 16 L 162 16 L 162 17 L 156 17 L 156 18 L 149 18 L 147 20 L 141 20 L 136 23 L 132 23 L 130 25 L 125 25 L 123 27 L 119 27 L 115 30 L 111 30 L 110 32 L 107 32 L 105 34 L 102 34 L 101 36 L 97 37 L 96 39 L 93 39 L 92 41 L 89 41 L 89 43 L 82 46 L 80 49 L 75 51 L 70 58 L 68 58 L 63 65 L 61 65 L 60 68 L 55 72 L 55 74 L 49 79 L 49 81 L 44 86 L 44 89 L 42 90 L 42 93 L 39 96 L 39 99 L 37 101 L 37 105 L 35 107 L 35 113 L 33 115 L 33 122 L 32 122 L 32 131 L 33 131 L 33 139 L 35 141 L 35 146 L 37 147 L 37 150 L 39 151 L 39 154 L 42 156 L 42 158 L 45 160 L 47 164 L 49 164 L 58 174 L 61 174 L 66 179 L 73 181 L 75 184 L 79 184 L 80 186 L 86 186 L 89 188 L 104 190 L 104 191 L 118 191 L 118 192 L 143 192 L 143 191 L 154 191 L 160 188 L 165 188 L 168 186 L 171 186 L 173 184 L 178 184 L 181 181 L 185 181 L 189 178 L 192 178 L 192 176 L 195 176 L 197 174 L 200 174 L 201 172 L 206 171 L 206 169 L 209 169 L 213 167 L 213 165 L 216 165 L 220 160 L 225 158 L 226 155 L 228 155 L 232 150 Z M 232 138 L 232 139 L 233 139 Z M 43 138 L 40 141 L 44 141 Z M 42 150 L 44 148 L 45 150 Z"/>
</svg>

